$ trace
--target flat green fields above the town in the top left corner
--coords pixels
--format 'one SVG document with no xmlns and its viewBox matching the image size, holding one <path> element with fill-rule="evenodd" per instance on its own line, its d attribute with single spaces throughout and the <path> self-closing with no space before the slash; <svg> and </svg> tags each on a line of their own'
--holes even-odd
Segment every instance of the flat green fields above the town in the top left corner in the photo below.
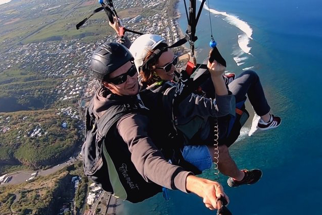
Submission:
<svg viewBox="0 0 322 215">
<path fill-rule="evenodd" d="M 51 3 L 57 9 L 43 11 L 43 2 L 20 1 L 10 5 L 0 5 L 0 49 L 6 50 L 19 44 L 30 42 L 42 42 L 52 40 L 67 40 L 83 38 L 87 36 L 107 35 L 113 31 L 110 28 L 102 28 L 106 25 L 106 15 L 101 12 L 95 18 L 96 23 L 92 23 L 86 28 L 76 29 L 76 24 L 87 15 L 89 10 L 93 10 L 93 4 L 83 4 L 86 1 L 57 1 Z M 97 6 L 97 5 L 95 5 Z M 28 10 L 28 8 L 32 10 Z M 35 10 L 38 10 L 35 13 Z M 134 17 L 134 16 L 133 16 Z"/>
</svg>

